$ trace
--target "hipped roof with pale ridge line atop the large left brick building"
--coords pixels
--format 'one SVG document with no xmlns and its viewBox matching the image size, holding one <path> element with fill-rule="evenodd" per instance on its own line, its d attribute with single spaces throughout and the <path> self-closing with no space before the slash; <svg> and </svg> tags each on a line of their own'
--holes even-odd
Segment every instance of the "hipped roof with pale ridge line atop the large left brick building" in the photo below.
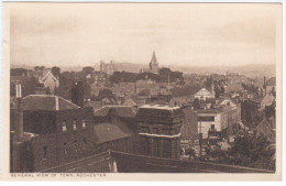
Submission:
<svg viewBox="0 0 286 186">
<path fill-rule="evenodd" d="M 23 110 L 69 110 L 80 107 L 55 95 L 29 95 L 22 99 Z"/>
</svg>

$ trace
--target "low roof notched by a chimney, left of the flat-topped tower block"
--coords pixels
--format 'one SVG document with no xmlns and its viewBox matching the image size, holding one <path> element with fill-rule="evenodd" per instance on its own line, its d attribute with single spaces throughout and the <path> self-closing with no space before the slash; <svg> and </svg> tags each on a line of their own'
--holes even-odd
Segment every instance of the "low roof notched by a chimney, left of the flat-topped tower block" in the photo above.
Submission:
<svg viewBox="0 0 286 186">
<path fill-rule="evenodd" d="M 95 117 L 107 117 L 110 109 L 116 109 L 118 117 L 121 118 L 135 118 L 136 112 L 130 106 L 105 106 L 95 111 Z"/>
</svg>

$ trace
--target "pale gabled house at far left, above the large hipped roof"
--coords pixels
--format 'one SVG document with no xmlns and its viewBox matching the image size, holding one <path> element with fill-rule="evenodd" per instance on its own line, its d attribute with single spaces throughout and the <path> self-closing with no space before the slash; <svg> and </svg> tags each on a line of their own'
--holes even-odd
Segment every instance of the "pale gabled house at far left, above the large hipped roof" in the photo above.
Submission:
<svg viewBox="0 0 286 186">
<path fill-rule="evenodd" d="M 38 83 L 48 88 L 52 94 L 59 86 L 58 77 L 55 77 L 51 69 L 44 70 L 42 76 L 38 77 Z"/>
</svg>

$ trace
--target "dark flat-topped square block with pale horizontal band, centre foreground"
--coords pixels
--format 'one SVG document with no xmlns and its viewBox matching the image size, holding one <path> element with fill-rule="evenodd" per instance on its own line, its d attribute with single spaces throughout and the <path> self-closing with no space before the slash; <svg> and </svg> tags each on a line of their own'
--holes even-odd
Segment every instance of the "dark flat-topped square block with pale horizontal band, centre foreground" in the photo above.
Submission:
<svg viewBox="0 0 286 186">
<path fill-rule="evenodd" d="M 140 154 L 179 158 L 184 111 L 179 107 L 142 106 L 136 114 Z"/>
</svg>

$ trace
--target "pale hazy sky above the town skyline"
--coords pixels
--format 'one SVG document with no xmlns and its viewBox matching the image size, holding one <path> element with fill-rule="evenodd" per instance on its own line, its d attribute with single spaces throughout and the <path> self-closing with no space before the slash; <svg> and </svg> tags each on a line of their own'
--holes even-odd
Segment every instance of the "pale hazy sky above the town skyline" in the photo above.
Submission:
<svg viewBox="0 0 286 186">
<path fill-rule="evenodd" d="M 276 4 L 30 3 L 13 6 L 11 63 L 161 66 L 275 63 Z M 48 64 L 48 65 L 47 65 Z"/>
</svg>

